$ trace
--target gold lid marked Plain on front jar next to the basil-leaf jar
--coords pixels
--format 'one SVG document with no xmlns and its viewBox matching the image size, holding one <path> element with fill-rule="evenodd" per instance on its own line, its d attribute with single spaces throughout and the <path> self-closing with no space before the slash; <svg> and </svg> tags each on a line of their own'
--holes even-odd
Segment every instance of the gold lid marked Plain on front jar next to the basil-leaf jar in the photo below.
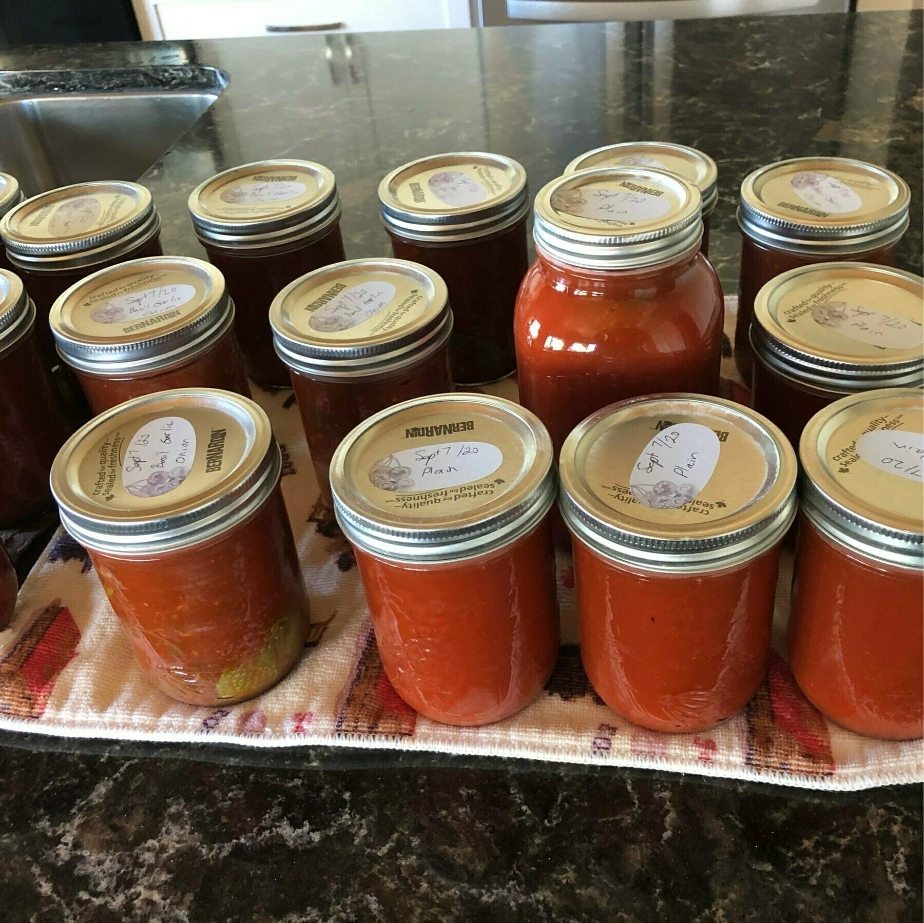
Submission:
<svg viewBox="0 0 924 923">
<path fill-rule="evenodd" d="M 500 397 L 419 397 L 346 436 L 331 488 L 341 528 L 364 551 L 456 561 L 516 540 L 549 511 L 552 440 L 529 410 Z"/>
</svg>

